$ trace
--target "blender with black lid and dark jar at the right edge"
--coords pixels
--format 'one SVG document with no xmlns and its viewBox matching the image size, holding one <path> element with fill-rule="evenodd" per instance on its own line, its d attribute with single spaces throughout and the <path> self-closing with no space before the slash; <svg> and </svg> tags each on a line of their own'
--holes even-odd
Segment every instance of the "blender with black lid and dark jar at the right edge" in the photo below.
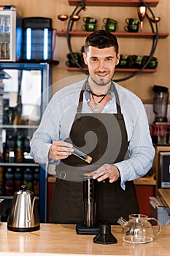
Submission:
<svg viewBox="0 0 170 256">
<path fill-rule="evenodd" d="M 153 112 L 155 121 L 151 126 L 151 136 L 154 145 L 169 145 L 170 123 L 167 119 L 169 89 L 164 86 L 153 86 Z"/>
</svg>

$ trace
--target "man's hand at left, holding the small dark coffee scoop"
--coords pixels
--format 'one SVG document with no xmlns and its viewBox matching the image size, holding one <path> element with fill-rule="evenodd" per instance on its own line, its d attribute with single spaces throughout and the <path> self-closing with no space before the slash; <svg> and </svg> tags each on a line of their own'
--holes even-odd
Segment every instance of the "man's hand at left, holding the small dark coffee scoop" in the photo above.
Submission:
<svg viewBox="0 0 170 256">
<path fill-rule="evenodd" d="M 72 144 L 65 141 L 53 141 L 50 146 L 48 157 L 55 161 L 66 159 L 74 151 Z"/>
</svg>

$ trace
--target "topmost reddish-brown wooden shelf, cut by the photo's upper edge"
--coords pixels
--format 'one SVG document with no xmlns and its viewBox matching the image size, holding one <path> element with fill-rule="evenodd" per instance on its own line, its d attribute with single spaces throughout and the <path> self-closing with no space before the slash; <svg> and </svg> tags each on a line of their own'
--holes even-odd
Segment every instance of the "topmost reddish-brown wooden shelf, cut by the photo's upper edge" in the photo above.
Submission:
<svg viewBox="0 0 170 256">
<path fill-rule="evenodd" d="M 81 0 L 69 0 L 69 5 L 80 4 Z M 145 0 L 150 7 L 155 7 L 159 0 Z M 142 5 L 140 0 L 86 0 L 85 5 L 89 6 L 115 6 L 115 7 L 138 7 Z"/>
</svg>

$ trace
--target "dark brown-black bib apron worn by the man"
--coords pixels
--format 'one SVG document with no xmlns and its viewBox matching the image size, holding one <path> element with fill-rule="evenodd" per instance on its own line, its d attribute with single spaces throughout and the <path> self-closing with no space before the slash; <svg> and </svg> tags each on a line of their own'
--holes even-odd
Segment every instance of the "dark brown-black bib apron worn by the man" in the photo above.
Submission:
<svg viewBox="0 0 170 256">
<path fill-rule="evenodd" d="M 83 173 L 90 173 L 104 163 L 113 164 L 128 158 L 128 139 L 120 109 L 117 90 L 113 85 L 117 113 L 82 113 L 84 87 L 80 92 L 77 114 L 72 124 L 69 140 L 85 154 L 93 157 L 90 165 L 74 155 L 56 166 L 58 178 L 53 192 L 50 222 L 83 222 Z M 120 180 L 110 184 L 109 179 L 95 181 L 96 222 L 117 225 L 117 219 L 139 213 L 133 181 L 126 181 L 125 190 Z"/>
</svg>

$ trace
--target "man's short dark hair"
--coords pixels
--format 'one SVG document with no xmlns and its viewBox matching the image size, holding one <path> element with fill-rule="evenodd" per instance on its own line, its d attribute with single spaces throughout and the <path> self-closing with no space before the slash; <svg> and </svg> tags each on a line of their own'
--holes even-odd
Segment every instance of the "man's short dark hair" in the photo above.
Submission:
<svg viewBox="0 0 170 256">
<path fill-rule="evenodd" d="M 104 48 L 109 48 L 114 46 L 116 55 L 119 50 L 117 38 L 115 37 L 114 34 L 106 30 L 94 31 L 92 34 L 90 34 L 86 38 L 85 46 L 84 46 L 85 53 L 87 52 L 89 46 L 93 46 L 99 49 L 104 49 Z"/>
</svg>

